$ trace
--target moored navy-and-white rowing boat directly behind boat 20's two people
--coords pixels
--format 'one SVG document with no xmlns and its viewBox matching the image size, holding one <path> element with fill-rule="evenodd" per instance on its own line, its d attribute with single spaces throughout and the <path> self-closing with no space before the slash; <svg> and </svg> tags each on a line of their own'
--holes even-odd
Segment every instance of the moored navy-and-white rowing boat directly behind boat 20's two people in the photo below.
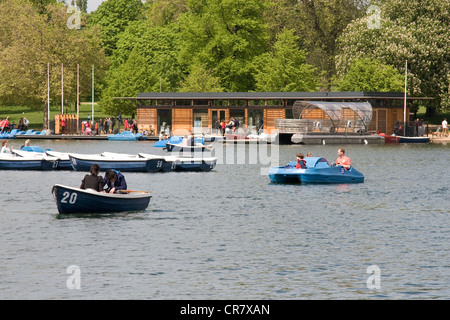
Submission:
<svg viewBox="0 0 450 320">
<path fill-rule="evenodd" d="M 105 156 L 96 154 L 69 153 L 72 168 L 77 171 L 87 171 L 96 163 L 102 171 L 116 169 L 122 172 L 157 172 L 162 169 L 163 159 L 147 159 L 139 156 Z"/>
</svg>

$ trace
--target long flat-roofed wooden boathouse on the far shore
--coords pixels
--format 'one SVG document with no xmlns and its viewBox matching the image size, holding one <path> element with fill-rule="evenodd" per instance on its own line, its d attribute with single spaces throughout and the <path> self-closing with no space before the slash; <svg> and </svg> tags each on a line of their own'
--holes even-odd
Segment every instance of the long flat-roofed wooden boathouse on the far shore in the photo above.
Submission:
<svg viewBox="0 0 450 320">
<path fill-rule="evenodd" d="M 159 134 L 161 130 L 185 129 L 215 132 L 216 120 L 229 122 L 234 117 L 240 128 L 271 132 L 276 119 L 292 119 L 297 101 L 369 102 L 373 109 L 369 132 L 392 134 L 395 123 L 403 123 L 404 93 L 392 92 L 142 92 L 134 100 L 140 130 Z M 407 97 L 407 121 L 410 105 L 425 97 Z"/>
</svg>

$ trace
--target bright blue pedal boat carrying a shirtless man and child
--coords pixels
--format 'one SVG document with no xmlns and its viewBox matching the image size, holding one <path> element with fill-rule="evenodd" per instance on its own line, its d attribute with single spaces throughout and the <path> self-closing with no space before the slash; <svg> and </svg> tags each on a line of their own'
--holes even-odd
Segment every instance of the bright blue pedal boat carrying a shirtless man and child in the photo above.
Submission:
<svg viewBox="0 0 450 320">
<path fill-rule="evenodd" d="M 305 158 L 307 169 L 297 169 L 297 162 L 292 161 L 282 167 L 269 169 L 269 177 L 274 183 L 363 183 L 364 175 L 353 166 L 349 170 L 341 166 L 330 166 L 321 157 Z"/>
</svg>

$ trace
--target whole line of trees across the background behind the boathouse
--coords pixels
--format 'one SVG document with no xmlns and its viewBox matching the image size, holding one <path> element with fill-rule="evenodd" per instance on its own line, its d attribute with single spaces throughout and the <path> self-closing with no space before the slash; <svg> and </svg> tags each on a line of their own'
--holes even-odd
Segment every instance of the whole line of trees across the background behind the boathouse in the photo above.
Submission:
<svg viewBox="0 0 450 320">
<path fill-rule="evenodd" d="M 177 91 L 400 91 L 450 106 L 450 2 L 434 0 L 106 0 L 75 13 L 56 0 L 0 0 L 0 104 Z M 27 36 L 24 36 L 27 35 Z M 66 71 L 67 68 L 67 71 Z M 59 71 L 58 71 L 59 70 Z M 67 78 L 66 78 L 67 76 Z M 67 79 L 67 80 L 66 80 Z M 60 101 L 60 100 L 59 100 Z"/>
</svg>

